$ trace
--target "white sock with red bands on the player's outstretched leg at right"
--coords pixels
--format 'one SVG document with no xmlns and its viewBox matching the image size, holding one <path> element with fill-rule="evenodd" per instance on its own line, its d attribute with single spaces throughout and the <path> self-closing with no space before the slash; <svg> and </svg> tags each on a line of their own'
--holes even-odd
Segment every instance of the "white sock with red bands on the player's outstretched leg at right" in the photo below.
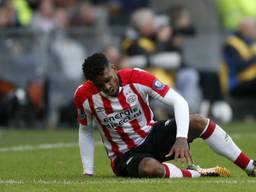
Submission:
<svg viewBox="0 0 256 192">
<path fill-rule="evenodd" d="M 247 172 L 252 171 L 254 167 L 253 160 L 243 153 L 233 142 L 231 137 L 213 121 L 208 120 L 200 137 L 203 138 L 216 153 L 227 157 L 241 169 Z"/>
</svg>

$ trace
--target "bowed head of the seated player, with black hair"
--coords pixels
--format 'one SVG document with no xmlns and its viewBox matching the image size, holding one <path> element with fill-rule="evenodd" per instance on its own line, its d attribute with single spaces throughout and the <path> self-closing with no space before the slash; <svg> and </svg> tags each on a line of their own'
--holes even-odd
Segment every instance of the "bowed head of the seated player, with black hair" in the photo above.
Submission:
<svg viewBox="0 0 256 192">
<path fill-rule="evenodd" d="M 83 73 L 87 80 L 109 96 L 117 96 L 119 78 L 116 70 L 102 53 L 95 53 L 84 60 Z"/>
</svg>

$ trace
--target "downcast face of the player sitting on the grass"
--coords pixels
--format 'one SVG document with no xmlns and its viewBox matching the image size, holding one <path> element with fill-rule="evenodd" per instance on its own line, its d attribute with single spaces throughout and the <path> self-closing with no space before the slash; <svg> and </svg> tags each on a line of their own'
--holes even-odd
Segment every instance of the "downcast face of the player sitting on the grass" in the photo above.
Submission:
<svg viewBox="0 0 256 192">
<path fill-rule="evenodd" d="M 116 74 L 116 71 L 108 67 L 104 70 L 102 75 L 99 75 L 94 80 L 96 87 L 103 91 L 105 94 L 116 97 L 119 92 L 119 79 Z"/>
</svg>

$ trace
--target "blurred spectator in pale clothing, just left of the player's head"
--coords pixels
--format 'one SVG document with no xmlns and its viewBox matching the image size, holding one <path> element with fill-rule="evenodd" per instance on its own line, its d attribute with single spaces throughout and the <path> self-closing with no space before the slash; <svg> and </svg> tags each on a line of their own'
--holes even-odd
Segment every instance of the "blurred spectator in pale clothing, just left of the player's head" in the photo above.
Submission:
<svg viewBox="0 0 256 192">
<path fill-rule="evenodd" d="M 68 16 L 66 9 L 59 8 L 56 10 L 54 21 L 56 29 L 53 31 L 50 41 L 50 52 L 53 59 L 49 72 L 52 87 L 50 126 L 56 126 L 59 123 L 60 108 L 64 109 L 68 105 L 69 109 L 72 109 L 70 106 L 73 98 L 72 91 L 82 80 L 80 63 L 87 55 L 84 46 L 70 36 Z M 57 69 L 54 71 L 54 68 Z"/>
</svg>

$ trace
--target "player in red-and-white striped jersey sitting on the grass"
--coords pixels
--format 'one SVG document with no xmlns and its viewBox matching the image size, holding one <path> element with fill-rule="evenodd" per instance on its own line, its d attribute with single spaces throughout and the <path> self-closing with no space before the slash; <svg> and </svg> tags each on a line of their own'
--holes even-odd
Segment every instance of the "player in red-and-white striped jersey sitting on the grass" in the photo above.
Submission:
<svg viewBox="0 0 256 192">
<path fill-rule="evenodd" d="M 94 173 L 92 131 L 97 127 L 117 176 L 229 176 L 224 167 L 203 169 L 192 164 L 189 143 L 197 138 L 249 176 L 255 176 L 256 162 L 219 125 L 197 114 L 190 115 L 185 99 L 151 73 L 136 68 L 117 71 L 101 53 L 85 59 L 82 69 L 87 81 L 77 88 L 74 101 L 84 175 Z M 174 118 L 154 121 L 149 96 L 173 106 Z M 180 169 L 167 162 L 172 159 L 189 166 Z"/>
</svg>

